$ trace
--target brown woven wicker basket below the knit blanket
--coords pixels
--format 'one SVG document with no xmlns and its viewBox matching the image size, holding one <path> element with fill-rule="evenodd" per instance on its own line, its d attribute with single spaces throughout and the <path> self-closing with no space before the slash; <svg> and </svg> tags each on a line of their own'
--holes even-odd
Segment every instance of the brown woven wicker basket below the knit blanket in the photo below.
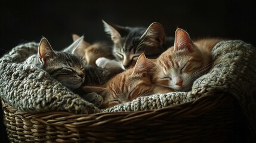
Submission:
<svg viewBox="0 0 256 143">
<path fill-rule="evenodd" d="M 137 112 L 32 114 L 2 105 L 12 142 L 245 142 L 248 132 L 235 98 L 223 92 Z"/>
</svg>

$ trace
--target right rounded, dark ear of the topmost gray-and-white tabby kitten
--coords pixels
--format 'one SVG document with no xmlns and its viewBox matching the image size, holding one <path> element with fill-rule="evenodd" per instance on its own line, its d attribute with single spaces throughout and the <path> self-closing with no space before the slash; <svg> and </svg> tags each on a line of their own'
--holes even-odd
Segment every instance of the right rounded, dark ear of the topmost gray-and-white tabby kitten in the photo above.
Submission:
<svg viewBox="0 0 256 143">
<path fill-rule="evenodd" d="M 150 40 L 158 42 L 159 45 L 162 45 L 163 43 L 165 43 L 164 28 L 160 23 L 154 22 L 150 24 L 150 26 L 147 28 L 147 30 L 143 33 L 143 35 L 140 38 L 143 39 L 145 37 L 149 37 Z"/>
</svg>

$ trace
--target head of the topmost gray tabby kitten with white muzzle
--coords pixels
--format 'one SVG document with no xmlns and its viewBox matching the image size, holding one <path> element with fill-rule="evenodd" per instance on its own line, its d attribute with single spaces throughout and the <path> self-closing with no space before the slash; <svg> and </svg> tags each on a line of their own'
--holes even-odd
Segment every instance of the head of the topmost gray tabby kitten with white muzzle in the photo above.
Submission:
<svg viewBox="0 0 256 143">
<path fill-rule="evenodd" d="M 105 31 L 113 41 L 113 55 L 124 69 L 134 66 L 141 53 L 148 58 L 158 57 L 165 43 L 165 33 L 160 23 L 144 27 L 123 27 L 103 21 Z"/>
</svg>

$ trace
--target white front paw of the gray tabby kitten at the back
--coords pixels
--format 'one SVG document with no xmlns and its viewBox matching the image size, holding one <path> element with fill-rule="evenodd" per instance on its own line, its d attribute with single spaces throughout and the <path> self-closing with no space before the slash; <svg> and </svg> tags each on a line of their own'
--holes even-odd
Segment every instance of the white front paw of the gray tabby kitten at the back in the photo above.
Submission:
<svg viewBox="0 0 256 143">
<path fill-rule="evenodd" d="M 111 73 L 120 73 L 125 70 L 124 66 L 116 60 L 110 60 L 105 57 L 100 57 L 95 61 L 96 65 L 102 69 L 107 69 Z"/>
</svg>

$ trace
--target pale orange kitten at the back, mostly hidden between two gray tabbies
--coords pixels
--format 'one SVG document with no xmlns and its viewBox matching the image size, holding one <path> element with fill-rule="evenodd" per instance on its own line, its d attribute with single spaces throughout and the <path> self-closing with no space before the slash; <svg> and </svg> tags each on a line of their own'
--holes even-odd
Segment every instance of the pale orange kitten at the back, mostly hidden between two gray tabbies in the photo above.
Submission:
<svg viewBox="0 0 256 143">
<path fill-rule="evenodd" d="M 73 41 L 76 41 L 80 38 L 80 36 L 73 34 Z M 92 66 L 96 66 L 95 61 L 100 57 L 105 57 L 109 59 L 113 59 L 112 48 L 111 45 L 108 45 L 105 42 L 96 42 L 90 44 L 85 42 L 84 40 L 78 45 L 76 49 L 76 53 L 83 57 L 87 64 Z"/>
</svg>

